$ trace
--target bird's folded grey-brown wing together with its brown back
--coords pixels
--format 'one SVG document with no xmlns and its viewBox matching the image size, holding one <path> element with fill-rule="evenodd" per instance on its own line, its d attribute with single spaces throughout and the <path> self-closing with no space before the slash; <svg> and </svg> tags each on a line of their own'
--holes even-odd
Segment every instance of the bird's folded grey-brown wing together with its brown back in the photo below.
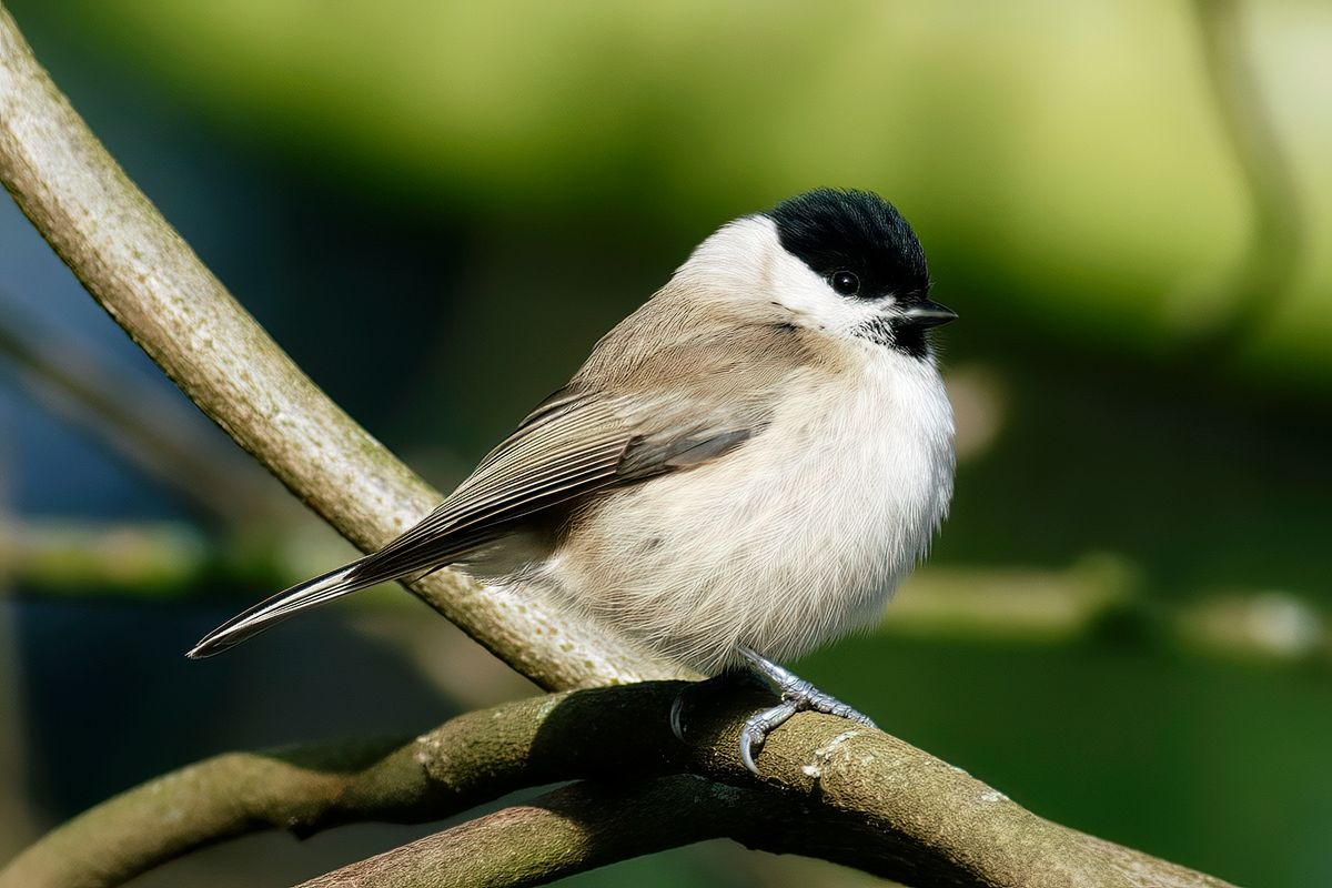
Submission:
<svg viewBox="0 0 1332 888">
<path fill-rule="evenodd" d="M 793 373 L 818 363 L 789 325 L 682 324 L 689 310 L 671 298 L 606 334 L 565 389 L 349 579 L 448 564 L 539 510 L 723 457 L 763 429 Z"/>
</svg>

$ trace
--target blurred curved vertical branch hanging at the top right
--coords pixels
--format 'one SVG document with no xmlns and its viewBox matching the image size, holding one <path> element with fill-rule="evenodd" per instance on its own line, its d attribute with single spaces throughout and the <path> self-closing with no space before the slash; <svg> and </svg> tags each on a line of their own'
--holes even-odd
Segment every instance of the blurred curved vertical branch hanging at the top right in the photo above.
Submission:
<svg viewBox="0 0 1332 888">
<path fill-rule="evenodd" d="M 1227 354 L 1252 341 L 1289 298 L 1305 241 L 1299 189 L 1244 47 L 1239 0 L 1193 0 L 1207 81 L 1249 202 L 1248 245 L 1221 294 L 1223 320 L 1196 347 Z"/>
</svg>

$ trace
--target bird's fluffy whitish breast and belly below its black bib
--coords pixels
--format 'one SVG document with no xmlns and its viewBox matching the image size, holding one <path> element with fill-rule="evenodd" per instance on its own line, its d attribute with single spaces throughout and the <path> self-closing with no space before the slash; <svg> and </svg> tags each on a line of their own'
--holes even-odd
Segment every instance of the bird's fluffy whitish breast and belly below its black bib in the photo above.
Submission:
<svg viewBox="0 0 1332 888">
<path fill-rule="evenodd" d="M 863 347 L 858 378 L 798 381 L 737 451 L 607 497 L 545 584 L 703 671 L 872 620 L 947 511 L 952 411 L 932 362 Z"/>
</svg>

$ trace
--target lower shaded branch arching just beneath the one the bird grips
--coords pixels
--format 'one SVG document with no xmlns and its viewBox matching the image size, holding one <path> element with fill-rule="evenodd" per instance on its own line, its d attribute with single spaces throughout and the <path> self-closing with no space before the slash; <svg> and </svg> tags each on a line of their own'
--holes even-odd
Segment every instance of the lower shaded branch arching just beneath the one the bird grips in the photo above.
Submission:
<svg viewBox="0 0 1332 888">
<path fill-rule="evenodd" d="M 843 863 L 923 888 L 1024 885 L 1040 888 L 1225 888 L 1225 883 L 1138 852 L 1072 833 L 1087 851 L 1060 861 L 1015 861 L 1011 873 L 970 871 L 916 848 L 875 824 L 811 808 L 790 793 L 707 783 L 693 776 L 651 781 L 578 783 L 478 817 L 297 888 L 517 888 L 709 839 L 755 851 Z M 1040 848 L 1032 848 L 1039 853 Z M 1086 868 L 1079 863 L 1091 864 Z M 1055 865 L 1052 865 L 1055 864 Z M 1004 877 L 1007 876 L 1007 877 Z"/>
</svg>

